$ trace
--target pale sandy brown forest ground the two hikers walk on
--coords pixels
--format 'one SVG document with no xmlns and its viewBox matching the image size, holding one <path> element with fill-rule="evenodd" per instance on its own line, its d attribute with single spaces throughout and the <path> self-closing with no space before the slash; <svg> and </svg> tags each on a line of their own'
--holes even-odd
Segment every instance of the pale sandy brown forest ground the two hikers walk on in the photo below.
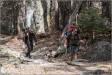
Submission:
<svg viewBox="0 0 112 75">
<path fill-rule="evenodd" d="M 0 38 L 0 73 L 8 75 L 111 75 L 111 62 L 65 61 L 65 57 L 53 58 L 50 51 L 58 48 L 59 36 L 40 36 L 32 51 L 32 58 L 25 57 L 26 48 L 17 36 Z M 55 40 L 55 41 L 54 41 Z M 88 74 L 87 74 L 88 73 Z M 102 73 L 102 74 L 100 74 Z M 1 75 L 1 74 L 0 74 Z"/>
</svg>

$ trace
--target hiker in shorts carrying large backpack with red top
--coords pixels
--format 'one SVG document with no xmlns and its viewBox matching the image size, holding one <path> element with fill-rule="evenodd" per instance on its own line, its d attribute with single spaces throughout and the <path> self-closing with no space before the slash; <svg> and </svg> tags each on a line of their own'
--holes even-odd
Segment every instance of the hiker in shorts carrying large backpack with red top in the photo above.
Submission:
<svg viewBox="0 0 112 75">
<path fill-rule="evenodd" d="M 77 59 L 77 51 L 79 50 L 79 29 L 78 26 L 74 24 L 68 25 L 66 29 L 67 31 L 64 32 L 64 35 L 66 37 L 65 48 L 67 49 L 67 53 L 70 54 L 70 61 L 72 61 L 73 58 Z"/>
</svg>

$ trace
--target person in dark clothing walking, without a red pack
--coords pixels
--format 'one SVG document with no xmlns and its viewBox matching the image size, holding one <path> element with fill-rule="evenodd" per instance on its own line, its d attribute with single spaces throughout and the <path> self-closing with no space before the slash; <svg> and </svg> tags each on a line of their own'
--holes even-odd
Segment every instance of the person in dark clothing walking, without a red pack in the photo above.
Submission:
<svg viewBox="0 0 112 75">
<path fill-rule="evenodd" d="M 26 28 L 24 31 L 24 43 L 26 44 L 28 50 L 26 56 L 31 58 L 31 51 L 33 51 L 33 43 L 37 42 L 36 35 L 32 29 Z"/>
</svg>

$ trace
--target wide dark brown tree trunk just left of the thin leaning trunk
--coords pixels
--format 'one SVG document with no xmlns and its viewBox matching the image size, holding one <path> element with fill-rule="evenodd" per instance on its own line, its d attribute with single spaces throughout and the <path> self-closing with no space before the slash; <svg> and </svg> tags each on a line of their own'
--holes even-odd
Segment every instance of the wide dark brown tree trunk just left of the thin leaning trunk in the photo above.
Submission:
<svg viewBox="0 0 112 75">
<path fill-rule="evenodd" d="M 59 30 L 63 31 L 64 27 L 68 24 L 69 16 L 71 13 L 71 0 L 58 1 L 59 5 Z"/>
</svg>

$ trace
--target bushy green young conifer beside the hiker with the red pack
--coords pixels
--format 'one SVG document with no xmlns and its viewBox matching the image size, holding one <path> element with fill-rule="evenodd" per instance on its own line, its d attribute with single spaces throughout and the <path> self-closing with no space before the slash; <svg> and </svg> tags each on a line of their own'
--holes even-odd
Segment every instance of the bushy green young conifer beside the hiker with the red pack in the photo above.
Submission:
<svg viewBox="0 0 112 75">
<path fill-rule="evenodd" d="M 99 9 L 88 8 L 79 14 L 79 26 L 83 33 L 89 36 L 94 34 L 108 34 L 108 28 L 104 25 L 107 18 L 103 18 Z"/>
</svg>

